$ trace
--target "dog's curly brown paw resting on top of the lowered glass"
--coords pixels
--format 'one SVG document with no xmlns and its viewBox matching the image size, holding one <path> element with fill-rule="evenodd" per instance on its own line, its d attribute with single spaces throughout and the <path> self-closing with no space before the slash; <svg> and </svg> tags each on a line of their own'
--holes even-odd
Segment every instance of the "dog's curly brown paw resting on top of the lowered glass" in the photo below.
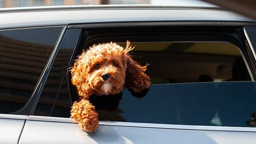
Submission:
<svg viewBox="0 0 256 144">
<path fill-rule="evenodd" d="M 148 89 L 149 86 L 150 78 L 145 73 L 141 72 L 139 76 L 133 78 L 130 81 L 128 88 L 133 92 L 140 92 L 144 89 Z"/>
</svg>

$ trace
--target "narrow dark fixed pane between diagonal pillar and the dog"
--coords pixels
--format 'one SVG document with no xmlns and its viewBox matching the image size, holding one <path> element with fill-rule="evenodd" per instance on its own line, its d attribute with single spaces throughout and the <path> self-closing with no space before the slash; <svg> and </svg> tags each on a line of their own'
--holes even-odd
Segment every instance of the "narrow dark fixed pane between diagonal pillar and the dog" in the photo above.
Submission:
<svg viewBox="0 0 256 144">
<path fill-rule="evenodd" d="M 34 115 L 69 117 L 71 100 L 68 94 L 66 74 L 79 36 L 80 29 L 68 30 L 64 36 Z"/>
</svg>

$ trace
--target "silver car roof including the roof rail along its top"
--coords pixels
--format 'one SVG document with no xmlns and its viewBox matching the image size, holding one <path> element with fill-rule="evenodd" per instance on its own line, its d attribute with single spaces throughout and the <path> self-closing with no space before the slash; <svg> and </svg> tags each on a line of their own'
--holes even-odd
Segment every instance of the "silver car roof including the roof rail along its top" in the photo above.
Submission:
<svg viewBox="0 0 256 144">
<path fill-rule="evenodd" d="M 255 22 L 214 5 L 79 5 L 0 9 L 0 29 L 99 22 Z"/>
</svg>

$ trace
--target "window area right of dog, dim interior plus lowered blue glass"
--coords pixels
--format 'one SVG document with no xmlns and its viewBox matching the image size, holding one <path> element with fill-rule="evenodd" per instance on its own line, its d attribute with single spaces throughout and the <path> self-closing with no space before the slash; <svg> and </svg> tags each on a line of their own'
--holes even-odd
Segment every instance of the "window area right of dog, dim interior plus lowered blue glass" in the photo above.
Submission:
<svg viewBox="0 0 256 144">
<path fill-rule="evenodd" d="M 125 47 L 125 43 L 119 43 Z M 133 42 L 133 59 L 148 63 L 151 86 L 143 98 L 125 88 L 115 111 L 100 120 L 250 126 L 255 82 L 240 49 L 229 42 Z M 245 82 L 248 81 L 248 82 Z M 205 83 L 207 82 L 207 83 Z M 239 113 L 239 116 L 234 116 Z"/>
</svg>

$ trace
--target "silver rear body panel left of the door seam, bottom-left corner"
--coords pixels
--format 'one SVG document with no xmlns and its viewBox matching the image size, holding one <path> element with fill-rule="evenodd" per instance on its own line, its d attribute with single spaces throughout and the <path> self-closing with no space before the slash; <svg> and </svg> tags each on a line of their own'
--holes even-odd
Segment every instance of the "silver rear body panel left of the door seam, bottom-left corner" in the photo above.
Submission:
<svg viewBox="0 0 256 144">
<path fill-rule="evenodd" d="M 0 143 L 17 144 L 24 123 L 25 120 L 0 118 Z"/>
</svg>

